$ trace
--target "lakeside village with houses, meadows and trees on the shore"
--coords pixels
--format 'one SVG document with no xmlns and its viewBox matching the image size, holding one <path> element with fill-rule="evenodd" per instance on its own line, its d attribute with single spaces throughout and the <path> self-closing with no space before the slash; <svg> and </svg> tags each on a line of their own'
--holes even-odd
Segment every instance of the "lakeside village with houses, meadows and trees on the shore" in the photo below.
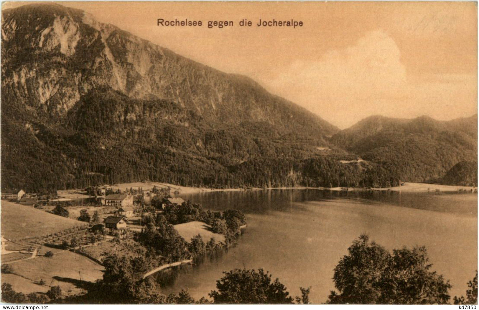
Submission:
<svg viewBox="0 0 479 310">
<path fill-rule="evenodd" d="M 171 191 L 105 185 L 70 191 L 71 198 L 2 192 L 1 283 L 23 294 L 48 295 L 58 286 L 60 298 L 81 296 L 103 277 L 109 256 L 148 256 L 147 277 L 228 246 L 231 232 L 246 227 L 242 214 L 223 218 Z M 173 228 L 168 237 L 157 234 L 165 227 Z"/>
</svg>

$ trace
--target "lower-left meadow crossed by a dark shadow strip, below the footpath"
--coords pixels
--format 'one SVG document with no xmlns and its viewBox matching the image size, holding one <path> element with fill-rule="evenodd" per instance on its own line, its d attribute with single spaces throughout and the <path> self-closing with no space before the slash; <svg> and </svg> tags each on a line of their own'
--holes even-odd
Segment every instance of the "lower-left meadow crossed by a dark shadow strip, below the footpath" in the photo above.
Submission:
<svg viewBox="0 0 479 310">
<path fill-rule="evenodd" d="M 103 276 L 103 266 L 70 251 L 57 252 L 51 258 L 37 257 L 14 262 L 11 266 L 14 274 L 2 274 L 1 282 L 8 282 L 23 293 L 29 289 L 34 289 L 34 292 L 43 291 L 42 288 L 47 290 L 47 286 L 52 283 L 60 286 L 65 295 L 77 295 L 84 292 L 87 284 L 85 281 L 94 282 Z M 28 285 L 25 282 L 27 279 L 30 280 Z M 36 285 L 35 282 L 40 279 L 46 281 L 47 286 Z"/>
</svg>

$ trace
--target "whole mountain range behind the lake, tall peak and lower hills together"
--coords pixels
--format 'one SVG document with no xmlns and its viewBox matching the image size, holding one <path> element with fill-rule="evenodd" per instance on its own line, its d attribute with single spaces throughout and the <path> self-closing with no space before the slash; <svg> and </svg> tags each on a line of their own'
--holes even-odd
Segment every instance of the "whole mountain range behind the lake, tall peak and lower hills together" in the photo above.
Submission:
<svg viewBox="0 0 479 310">
<path fill-rule="evenodd" d="M 58 4 L 3 10 L 1 40 L 3 190 L 385 187 L 477 155 L 473 119 L 372 117 L 339 131 L 248 77 Z"/>
</svg>

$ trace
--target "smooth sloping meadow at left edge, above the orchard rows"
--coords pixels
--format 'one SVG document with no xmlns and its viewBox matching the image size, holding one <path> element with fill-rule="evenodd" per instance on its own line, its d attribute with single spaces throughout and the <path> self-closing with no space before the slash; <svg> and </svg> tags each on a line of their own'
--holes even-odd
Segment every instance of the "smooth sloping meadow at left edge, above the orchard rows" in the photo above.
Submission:
<svg viewBox="0 0 479 310">
<path fill-rule="evenodd" d="M 1 235 L 7 239 L 23 239 L 55 233 L 85 222 L 53 215 L 33 207 L 1 201 Z"/>
</svg>

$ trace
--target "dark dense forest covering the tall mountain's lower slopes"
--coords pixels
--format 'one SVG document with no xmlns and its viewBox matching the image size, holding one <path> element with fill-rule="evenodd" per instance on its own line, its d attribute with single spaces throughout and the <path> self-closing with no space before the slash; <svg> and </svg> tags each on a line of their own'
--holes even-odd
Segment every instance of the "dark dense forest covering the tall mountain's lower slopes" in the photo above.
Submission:
<svg viewBox="0 0 479 310">
<path fill-rule="evenodd" d="M 15 114 L 16 115 L 16 114 Z M 98 89 L 64 119 L 27 125 L 3 109 L 2 186 L 54 193 L 138 180 L 185 186 L 390 186 L 385 167 L 267 123 L 213 126 L 164 100 Z M 19 139 L 21 137 L 21 139 Z M 342 161 L 351 161 L 344 163 Z"/>
</svg>

